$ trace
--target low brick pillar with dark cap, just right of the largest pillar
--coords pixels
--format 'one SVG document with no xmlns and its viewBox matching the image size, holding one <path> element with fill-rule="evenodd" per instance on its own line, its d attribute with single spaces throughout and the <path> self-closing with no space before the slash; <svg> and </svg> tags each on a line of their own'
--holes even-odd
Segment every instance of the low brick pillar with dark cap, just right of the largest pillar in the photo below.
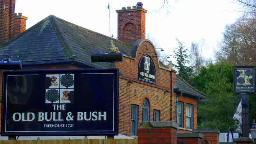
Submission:
<svg viewBox="0 0 256 144">
<path fill-rule="evenodd" d="M 202 133 L 177 133 L 177 141 L 184 144 L 202 144 L 204 135 Z"/>
</svg>

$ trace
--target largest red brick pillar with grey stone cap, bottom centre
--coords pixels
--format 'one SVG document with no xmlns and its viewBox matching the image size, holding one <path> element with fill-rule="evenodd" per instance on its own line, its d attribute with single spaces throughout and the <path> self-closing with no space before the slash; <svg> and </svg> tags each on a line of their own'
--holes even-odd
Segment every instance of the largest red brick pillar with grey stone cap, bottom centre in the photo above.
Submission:
<svg viewBox="0 0 256 144">
<path fill-rule="evenodd" d="M 148 122 L 140 124 L 139 144 L 177 144 L 178 124 L 174 122 Z"/>
</svg>

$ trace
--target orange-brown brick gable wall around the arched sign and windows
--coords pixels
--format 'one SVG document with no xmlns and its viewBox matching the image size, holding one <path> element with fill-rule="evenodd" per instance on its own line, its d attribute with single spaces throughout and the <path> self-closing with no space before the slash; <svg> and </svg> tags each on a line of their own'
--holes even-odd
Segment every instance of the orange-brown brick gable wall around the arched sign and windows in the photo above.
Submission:
<svg viewBox="0 0 256 144">
<path fill-rule="evenodd" d="M 155 54 L 148 53 L 154 61 L 156 68 L 156 84 L 150 84 L 147 82 L 138 80 L 138 66 L 140 58 L 144 54 L 140 52 L 146 51 L 146 45 L 148 48 L 153 48 L 149 42 L 144 42 L 138 47 L 136 60 L 124 57 L 123 62 L 116 62 L 116 67 L 119 68 L 119 72 L 123 75 L 119 79 L 119 133 L 124 135 L 130 135 L 131 130 L 131 105 L 139 106 L 139 124 L 142 123 L 142 106 L 143 100 L 148 98 L 150 103 L 150 121 L 153 121 L 153 110 L 160 110 L 160 120 L 170 121 L 172 112 L 171 104 L 171 72 L 158 68 L 158 61 Z M 148 50 L 148 52 L 154 52 L 154 50 Z M 133 80 L 133 84 L 128 84 L 129 80 Z M 164 93 L 164 90 L 168 90 L 169 93 Z"/>
</svg>

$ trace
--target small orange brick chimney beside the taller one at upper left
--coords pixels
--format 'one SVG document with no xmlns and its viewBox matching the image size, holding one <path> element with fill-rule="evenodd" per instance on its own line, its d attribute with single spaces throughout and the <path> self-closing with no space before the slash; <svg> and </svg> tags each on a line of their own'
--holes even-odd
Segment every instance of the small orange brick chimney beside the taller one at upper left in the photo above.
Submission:
<svg viewBox="0 0 256 144">
<path fill-rule="evenodd" d="M 26 30 L 27 17 L 23 16 L 22 13 L 16 14 L 15 17 L 15 36 Z"/>
</svg>

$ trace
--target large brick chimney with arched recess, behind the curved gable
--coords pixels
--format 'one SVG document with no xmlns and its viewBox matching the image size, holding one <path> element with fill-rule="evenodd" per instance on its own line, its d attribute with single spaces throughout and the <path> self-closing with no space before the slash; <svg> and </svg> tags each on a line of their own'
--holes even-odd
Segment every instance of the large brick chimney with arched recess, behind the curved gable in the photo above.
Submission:
<svg viewBox="0 0 256 144">
<path fill-rule="evenodd" d="M 117 12 L 117 36 L 118 39 L 127 43 L 134 43 L 138 39 L 145 39 L 146 12 L 141 2 L 137 6 L 123 7 Z"/>
</svg>

